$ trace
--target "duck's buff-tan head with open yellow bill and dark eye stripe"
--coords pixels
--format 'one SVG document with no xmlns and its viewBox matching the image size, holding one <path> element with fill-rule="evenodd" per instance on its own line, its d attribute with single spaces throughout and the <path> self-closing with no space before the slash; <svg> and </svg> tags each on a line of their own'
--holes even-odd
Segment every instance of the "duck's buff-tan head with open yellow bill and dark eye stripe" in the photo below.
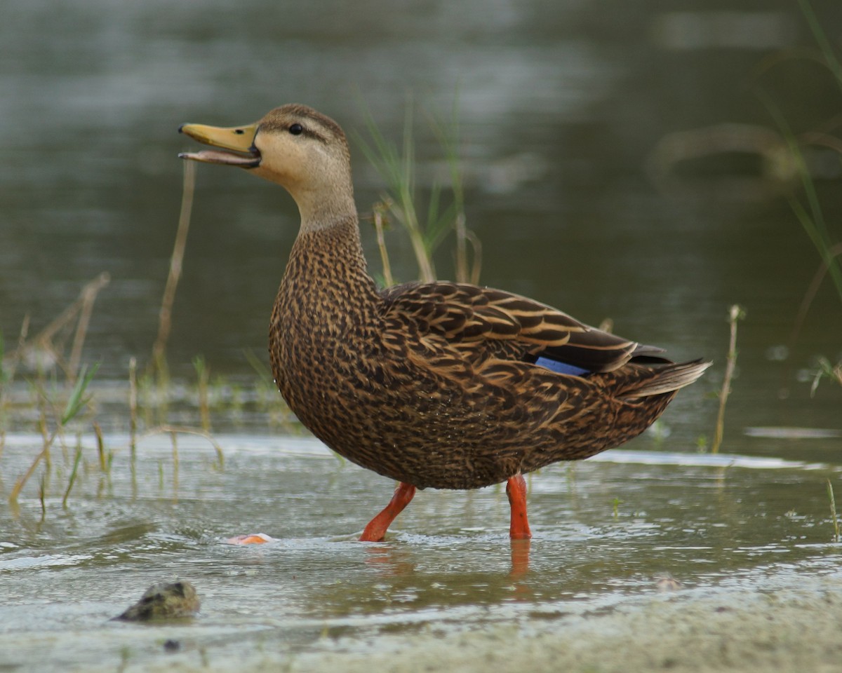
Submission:
<svg viewBox="0 0 842 673">
<path fill-rule="evenodd" d="M 275 108 L 254 124 L 184 124 L 181 133 L 219 149 L 182 152 L 183 159 L 238 166 L 284 187 L 304 225 L 355 215 L 348 141 L 339 125 L 304 105 Z"/>
</svg>

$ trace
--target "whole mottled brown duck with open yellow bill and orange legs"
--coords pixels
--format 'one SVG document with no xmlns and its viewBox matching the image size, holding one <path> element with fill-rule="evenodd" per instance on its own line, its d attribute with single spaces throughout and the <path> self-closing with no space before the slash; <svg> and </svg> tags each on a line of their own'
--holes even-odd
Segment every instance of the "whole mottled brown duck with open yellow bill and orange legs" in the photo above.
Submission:
<svg viewBox="0 0 842 673">
<path fill-rule="evenodd" d="M 521 474 L 635 437 L 707 367 L 671 363 L 658 348 L 500 290 L 446 282 L 378 290 L 360 246 L 344 134 L 312 109 L 284 106 L 251 127 L 183 130 L 250 152 L 187 158 L 248 167 L 296 198 L 301 232 L 269 328 L 275 380 L 329 447 L 402 482 L 397 511 L 414 487 L 509 480 L 512 497 Z M 513 501 L 514 537 L 529 535 L 523 508 L 516 536 Z M 381 527 L 364 538 L 379 539 Z"/>
</svg>

